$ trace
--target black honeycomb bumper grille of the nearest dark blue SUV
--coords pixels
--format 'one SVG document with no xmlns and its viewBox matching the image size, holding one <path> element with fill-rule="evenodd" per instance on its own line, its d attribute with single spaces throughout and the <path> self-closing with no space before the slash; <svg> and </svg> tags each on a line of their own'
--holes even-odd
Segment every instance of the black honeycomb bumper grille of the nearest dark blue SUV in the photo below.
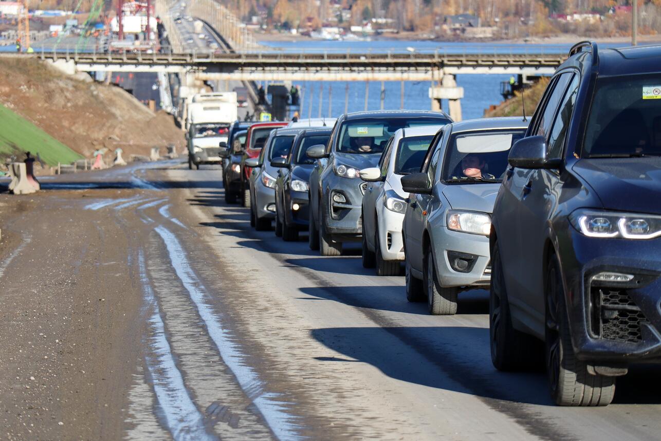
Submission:
<svg viewBox="0 0 661 441">
<path fill-rule="evenodd" d="M 638 343 L 647 319 L 627 290 L 591 288 L 592 332 L 602 339 Z"/>
</svg>

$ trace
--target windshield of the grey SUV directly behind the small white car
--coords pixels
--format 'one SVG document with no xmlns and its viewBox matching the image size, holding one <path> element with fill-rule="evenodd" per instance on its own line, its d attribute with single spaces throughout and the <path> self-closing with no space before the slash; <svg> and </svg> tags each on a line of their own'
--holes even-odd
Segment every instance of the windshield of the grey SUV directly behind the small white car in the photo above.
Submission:
<svg viewBox="0 0 661 441">
<path fill-rule="evenodd" d="M 428 116 L 346 121 L 340 128 L 340 141 L 336 149 L 342 153 L 381 153 L 390 137 L 401 128 L 431 126 L 447 122 L 446 118 Z"/>
</svg>

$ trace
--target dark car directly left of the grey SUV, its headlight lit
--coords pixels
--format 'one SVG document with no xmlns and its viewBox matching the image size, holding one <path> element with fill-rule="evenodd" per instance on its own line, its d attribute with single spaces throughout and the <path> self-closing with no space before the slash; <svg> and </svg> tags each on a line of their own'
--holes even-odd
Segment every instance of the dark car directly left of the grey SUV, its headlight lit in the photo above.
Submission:
<svg viewBox="0 0 661 441">
<path fill-rule="evenodd" d="M 285 241 L 298 240 L 299 231 L 307 229 L 310 173 L 315 166 L 315 160 L 306 154 L 307 149 L 313 145 L 326 145 L 330 137 L 331 128 L 305 129 L 294 139 L 286 159 L 271 161 L 271 165 L 279 167 L 276 177 L 276 234 L 282 233 Z"/>
</svg>

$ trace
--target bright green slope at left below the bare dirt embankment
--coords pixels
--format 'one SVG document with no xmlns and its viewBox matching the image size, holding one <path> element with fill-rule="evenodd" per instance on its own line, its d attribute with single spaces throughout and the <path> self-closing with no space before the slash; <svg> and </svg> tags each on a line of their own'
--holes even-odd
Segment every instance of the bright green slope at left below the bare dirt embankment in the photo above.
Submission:
<svg viewBox="0 0 661 441">
<path fill-rule="evenodd" d="M 25 118 L 15 114 L 0 104 L 0 157 L 16 155 L 24 159 L 22 153 L 37 153 L 44 163 L 69 164 L 82 156 L 59 142 Z"/>
</svg>

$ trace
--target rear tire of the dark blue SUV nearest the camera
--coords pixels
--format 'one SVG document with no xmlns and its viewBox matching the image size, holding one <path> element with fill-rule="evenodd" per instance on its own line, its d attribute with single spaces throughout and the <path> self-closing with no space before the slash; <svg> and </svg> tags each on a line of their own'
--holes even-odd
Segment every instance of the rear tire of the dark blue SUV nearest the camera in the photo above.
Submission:
<svg viewBox="0 0 661 441">
<path fill-rule="evenodd" d="M 491 362 L 501 371 L 529 370 L 541 360 L 541 344 L 512 326 L 510 302 L 505 288 L 500 247 L 495 243 L 489 290 L 489 341 Z"/>
</svg>

